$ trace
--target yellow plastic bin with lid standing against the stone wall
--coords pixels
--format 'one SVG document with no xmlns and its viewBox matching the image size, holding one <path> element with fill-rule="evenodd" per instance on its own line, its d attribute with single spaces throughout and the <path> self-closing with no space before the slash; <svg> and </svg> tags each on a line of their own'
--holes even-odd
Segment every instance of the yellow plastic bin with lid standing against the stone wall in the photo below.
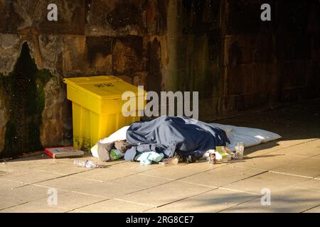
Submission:
<svg viewBox="0 0 320 227">
<path fill-rule="evenodd" d="M 65 78 L 63 82 L 67 84 L 67 98 L 73 103 L 75 148 L 88 151 L 98 140 L 140 120 L 145 92 L 139 87 L 114 76 Z M 130 98 L 122 100 L 125 92 Z M 129 99 L 136 105 L 123 110 Z"/>
</svg>

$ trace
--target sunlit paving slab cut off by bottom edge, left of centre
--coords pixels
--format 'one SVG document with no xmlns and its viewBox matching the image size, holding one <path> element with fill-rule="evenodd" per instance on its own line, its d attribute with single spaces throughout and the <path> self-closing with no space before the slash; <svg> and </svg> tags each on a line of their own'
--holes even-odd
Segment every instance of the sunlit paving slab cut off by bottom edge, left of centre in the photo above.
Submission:
<svg viewBox="0 0 320 227">
<path fill-rule="evenodd" d="M 75 212 L 95 212 L 95 213 L 139 213 L 150 209 L 150 206 L 143 204 L 135 204 L 117 199 L 108 199 L 97 204 L 76 209 Z"/>
</svg>

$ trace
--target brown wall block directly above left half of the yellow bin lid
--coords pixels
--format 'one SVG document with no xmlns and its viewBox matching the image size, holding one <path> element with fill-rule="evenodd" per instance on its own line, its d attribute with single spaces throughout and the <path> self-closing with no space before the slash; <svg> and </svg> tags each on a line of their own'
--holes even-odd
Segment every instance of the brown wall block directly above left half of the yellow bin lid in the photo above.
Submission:
<svg viewBox="0 0 320 227">
<path fill-rule="evenodd" d="M 63 40 L 65 76 L 112 74 L 110 37 L 65 36 Z"/>
</svg>

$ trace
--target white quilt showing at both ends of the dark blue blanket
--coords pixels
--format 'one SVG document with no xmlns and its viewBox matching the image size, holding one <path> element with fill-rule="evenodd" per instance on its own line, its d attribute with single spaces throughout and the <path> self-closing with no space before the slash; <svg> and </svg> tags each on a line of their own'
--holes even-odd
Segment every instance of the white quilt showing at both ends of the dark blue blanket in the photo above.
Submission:
<svg viewBox="0 0 320 227">
<path fill-rule="evenodd" d="M 227 147 L 231 151 L 235 151 L 235 144 L 237 142 L 243 142 L 245 148 L 258 145 L 260 143 L 267 143 L 272 140 L 277 140 L 281 138 L 277 133 L 272 133 L 270 131 L 265 131 L 259 128 L 246 128 L 237 126 L 222 125 L 219 123 L 210 123 L 211 126 L 221 128 L 230 140 L 230 144 Z M 119 129 L 108 138 L 100 140 L 101 143 L 112 143 L 118 140 L 126 140 L 126 134 L 129 126 Z M 98 157 L 97 151 L 95 149 L 91 150 L 94 157 Z"/>
</svg>

